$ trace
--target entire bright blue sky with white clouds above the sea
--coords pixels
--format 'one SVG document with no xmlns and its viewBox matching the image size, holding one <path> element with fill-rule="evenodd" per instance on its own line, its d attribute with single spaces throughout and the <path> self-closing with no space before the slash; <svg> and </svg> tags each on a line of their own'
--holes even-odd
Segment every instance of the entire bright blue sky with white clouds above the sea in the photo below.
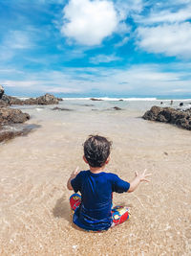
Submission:
<svg viewBox="0 0 191 256">
<path fill-rule="evenodd" d="M 191 0 L 0 0 L 9 95 L 191 97 Z"/>
</svg>

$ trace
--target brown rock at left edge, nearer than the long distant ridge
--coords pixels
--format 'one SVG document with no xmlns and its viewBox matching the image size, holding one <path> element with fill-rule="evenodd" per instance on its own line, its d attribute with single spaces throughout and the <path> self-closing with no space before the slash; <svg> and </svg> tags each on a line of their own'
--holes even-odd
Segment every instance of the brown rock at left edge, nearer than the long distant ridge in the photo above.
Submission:
<svg viewBox="0 0 191 256">
<path fill-rule="evenodd" d="M 20 109 L 0 107 L 0 125 L 11 125 L 24 123 L 30 119 L 30 115 L 23 113 Z"/>
</svg>

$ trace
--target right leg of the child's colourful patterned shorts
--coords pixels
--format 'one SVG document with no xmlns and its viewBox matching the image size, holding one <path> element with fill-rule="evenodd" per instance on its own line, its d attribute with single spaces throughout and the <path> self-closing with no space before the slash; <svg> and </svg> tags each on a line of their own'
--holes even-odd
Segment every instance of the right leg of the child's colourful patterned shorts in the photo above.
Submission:
<svg viewBox="0 0 191 256">
<path fill-rule="evenodd" d="M 124 206 L 116 206 L 112 209 L 112 227 L 127 221 L 130 218 L 129 208 Z"/>
</svg>

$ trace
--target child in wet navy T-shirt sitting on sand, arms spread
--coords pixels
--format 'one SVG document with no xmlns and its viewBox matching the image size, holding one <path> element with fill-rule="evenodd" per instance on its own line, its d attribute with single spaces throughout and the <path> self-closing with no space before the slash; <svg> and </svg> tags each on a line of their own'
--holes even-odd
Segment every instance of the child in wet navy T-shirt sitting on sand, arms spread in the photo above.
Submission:
<svg viewBox="0 0 191 256">
<path fill-rule="evenodd" d="M 133 192 L 141 181 L 149 181 L 144 171 L 132 182 L 120 179 L 117 175 L 105 173 L 104 168 L 110 161 L 112 143 L 105 137 L 91 135 L 84 143 L 84 161 L 90 170 L 72 173 L 67 187 L 74 190 L 70 203 L 74 211 L 73 221 L 78 227 L 88 231 L 107 230 L 129 219 L 126 207 L 112 208 L 113 192 Z M 81 196 L 76 194 L 80 192 Z"/>
</svg>

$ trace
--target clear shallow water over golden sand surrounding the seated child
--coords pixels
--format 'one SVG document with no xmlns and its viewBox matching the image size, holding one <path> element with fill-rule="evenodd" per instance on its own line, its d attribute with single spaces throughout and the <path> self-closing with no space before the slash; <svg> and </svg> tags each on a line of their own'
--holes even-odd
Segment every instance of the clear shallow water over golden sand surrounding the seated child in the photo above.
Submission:
<svg viewBox="0 0 191 256">
<path fill-rule="evenodd" d="M 0 255 L 189 255 L 191 133 L 142 120 L 151 105 L 159 102 L 21 106 L 40 128 L 0 145 Z M 92 133 L 113 141 L 107 171 L 126 180 L 145 168 L 153 174 L 136 192 L 114 196 L 131 220 L 97 234 L 72 226 L 66 188 L 76 166 L 87 169 L 82 144 Z"/>
</svg>

